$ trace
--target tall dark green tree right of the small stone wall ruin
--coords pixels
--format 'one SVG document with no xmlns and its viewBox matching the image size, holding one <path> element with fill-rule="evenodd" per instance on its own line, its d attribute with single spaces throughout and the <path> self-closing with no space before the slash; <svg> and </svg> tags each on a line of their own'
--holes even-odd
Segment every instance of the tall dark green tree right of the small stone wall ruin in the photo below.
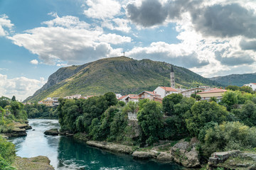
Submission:
<svg viewBox="0 0 256 170">
<path fill-rule="evenodd" d="M 138 123 L 142 128 L 142 142 L 152 145 L 159 140 L 159 132 L 163 127 L 161 103 L 147 101 L 137 113 Z"/>
</svg>

